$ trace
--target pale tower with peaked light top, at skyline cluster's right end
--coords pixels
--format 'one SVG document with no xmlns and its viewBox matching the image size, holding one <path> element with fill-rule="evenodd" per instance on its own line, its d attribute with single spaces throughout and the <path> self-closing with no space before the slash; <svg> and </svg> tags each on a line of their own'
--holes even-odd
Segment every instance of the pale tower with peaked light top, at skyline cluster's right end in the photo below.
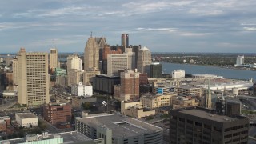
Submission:
<svg viewBox="0 0 256 144">
<path fill-rule="evenodd" d="M 151 52 L 148 48 L 143 47 L 138 50 L 138 61 L 137 69 L 140 73 L 150 73 L 150 64 L 151 64 Z"/>
</svg>

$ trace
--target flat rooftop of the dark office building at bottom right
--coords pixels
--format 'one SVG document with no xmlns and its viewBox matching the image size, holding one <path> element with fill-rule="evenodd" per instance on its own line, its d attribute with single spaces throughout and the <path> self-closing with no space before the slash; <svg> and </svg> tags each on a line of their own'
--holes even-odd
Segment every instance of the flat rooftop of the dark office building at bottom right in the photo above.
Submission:
<svg viewBox="0 0 256 144">
<path fill-rule="evenodd" d="M 241 119 L 242 117 L 229 117 L 226 115 L 218 115 L 218 114 L 212 114 L 206 111 L 206 109 L 201 109 L 201 108 L 186 108 L 185 110 L 180 110 L 179 111 L 182 114 L 189 114 L 189 115 L 194 115 L 198 118 L 205 118 L 211 121 L 216 121 L 216 122 L 233 122 Z"/>
</svg>

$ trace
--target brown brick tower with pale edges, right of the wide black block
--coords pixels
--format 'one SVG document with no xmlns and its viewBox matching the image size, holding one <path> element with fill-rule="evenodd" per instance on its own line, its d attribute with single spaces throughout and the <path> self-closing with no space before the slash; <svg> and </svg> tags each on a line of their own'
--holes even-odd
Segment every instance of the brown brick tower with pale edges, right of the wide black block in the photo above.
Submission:
<svg viewBox="0 0 256 144">
<path fill-rule="evenodd" d="M 137 70 L 125 70 L 120 74 L 120 98 L 123 101 L 139 98 L 139 73 Z"/>
</svg>

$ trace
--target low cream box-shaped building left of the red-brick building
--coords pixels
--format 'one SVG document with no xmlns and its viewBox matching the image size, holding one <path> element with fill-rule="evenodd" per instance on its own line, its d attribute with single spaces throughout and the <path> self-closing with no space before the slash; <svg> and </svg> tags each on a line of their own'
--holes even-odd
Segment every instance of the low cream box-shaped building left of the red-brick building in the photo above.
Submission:
<svg viewBox="0 0 256 144">
<path fill-rule="evenodd" d="M 20 126 L 30 127 L 38 126 L 38 117 L 31 113 L 16 113 L 15 114 L 16 121 Z"/>
</svg>

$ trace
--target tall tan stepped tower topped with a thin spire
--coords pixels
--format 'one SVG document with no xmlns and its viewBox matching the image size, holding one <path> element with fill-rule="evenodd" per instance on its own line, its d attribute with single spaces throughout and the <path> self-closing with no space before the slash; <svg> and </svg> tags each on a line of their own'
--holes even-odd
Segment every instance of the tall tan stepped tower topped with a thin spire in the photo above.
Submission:
<svg viewBox="0 0 256 144">
<path fill-rule="evenodd" d="M 84 70 L 95 68 L 98 70 L 99 62 L 99 49 L 96 38 L 90 37 L 86 42 L 86 48 L 84 52 Z"/>
</svg>

